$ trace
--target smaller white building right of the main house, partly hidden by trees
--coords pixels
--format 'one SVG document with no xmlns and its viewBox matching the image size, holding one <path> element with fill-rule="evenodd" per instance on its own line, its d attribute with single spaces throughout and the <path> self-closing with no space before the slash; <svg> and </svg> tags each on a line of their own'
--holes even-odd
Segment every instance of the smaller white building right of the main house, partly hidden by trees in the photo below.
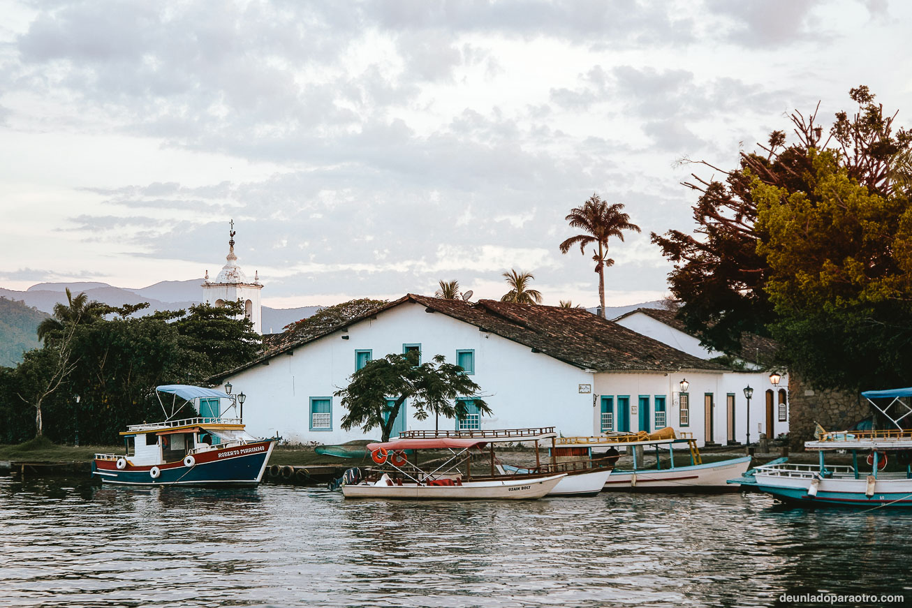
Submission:
<svg viewBox="0 0 912 608">
<path fill-rule="evenodd" d="M 637 334 L 648 335 L 654 340 L 701 359 L 710 360 L 722 356 L 719 351 L 700 345 L 700 339 L 689 334 L 672 311 L 638 308 L 617 317 L 615 322 Z M 738 429 L 735 430 L 735 437 L 739 442 L 744 440 L 744 425 L 747 424 L 747 399 L 744 397 L 746 386 L 754 389 L 750 412 L 751 441 L 756 441 L 761 433 L 765 433 L 768 438 L 777 438 L 789 432 L 788 375 L 783 374 L 777 386 L 772 386 L 770 382 L 775 343 L 769 338 L 745 333 L 741 336 L 741 344 L 740 356 L 736 357 L 734 363 L 745 371 L 726 374 L 718 393 L 724 396 L 725 407 L 716 408 L 715 424 L 716 428 L 725 429 L 726 435 L 716 434 L 714 438 L 717 442 L 720 439 L 731 440 L 732 420 L 735 426 L 741 428 L 740 432 Z M 696 397 L 691 397 L 693 398 Z M 710 397 L 703 398 L 707 400 Z"/>
</svg>

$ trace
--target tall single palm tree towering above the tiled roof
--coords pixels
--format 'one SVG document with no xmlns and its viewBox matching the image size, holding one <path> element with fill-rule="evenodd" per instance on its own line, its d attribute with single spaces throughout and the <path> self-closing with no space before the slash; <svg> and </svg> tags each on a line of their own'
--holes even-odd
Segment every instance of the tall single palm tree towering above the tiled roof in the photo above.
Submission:
<svg viewBox="0 0 912 608">
<path fill-rule="evenodd" d="M 579 251 L 586 254 L 586 245 L 598 244 L 598 251 L 593 249 L 592 259 L 596 263 L 598 273 L 598 301 L 601 304 L 599 315 L 605 318 L 605 269 L 613 266 L 615 261 L 608 257 L 608 239 L 617 236 L 624 241 L 621 231 L 632 230 L 640 232 L 637 224 L 630 223 L 630 216 L 623 212 L 624 205 L 616 202 L 608 205 L 606 201 L 593 194 L 582 207 L 576 207 L 565 217 L 573 228 L 581 228 L 587 234 L 577 234 L 562 242 L 561 253 L 570 251 L 574 245 L 579 245 Z"/>
</svg>

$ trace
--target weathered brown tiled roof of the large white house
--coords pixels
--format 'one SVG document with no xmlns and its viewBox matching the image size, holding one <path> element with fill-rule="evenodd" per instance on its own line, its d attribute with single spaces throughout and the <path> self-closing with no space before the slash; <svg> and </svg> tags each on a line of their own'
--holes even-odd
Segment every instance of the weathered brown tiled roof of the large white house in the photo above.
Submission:
<svg viewBox="0 0 912 608">
<path fill-rule="evenodd" d="M 232 376 L 247 367 L 264 363 L 288 350 L 354 325 L 363 319 L 383 314 L 386 310 L 407 302 L 421 304 L 429 313 L 446 314 L 464 323 L 475 325 L 482 331 L 528 346 L 533 352 L 552 356 L 582 369 L 599 372 L 677 371 L 679 369 L 721 372 L 727 369 L 725 366 L 700 359 L 700 357 L 662 344 L 658 340 L 637 334 L 612 321 L 606 321 L 582 308 L 510 304 L 494 300 L 470 303 L 462 300 L 445 300 L 407 294 L 373 313 L 353 318 L 323 334 L 308 336 L 300 341 L 278 346 L 253 362 L 218 376 L 212 376 L 210 380 L 217 381 L 226 376 Z"/>
</svg>

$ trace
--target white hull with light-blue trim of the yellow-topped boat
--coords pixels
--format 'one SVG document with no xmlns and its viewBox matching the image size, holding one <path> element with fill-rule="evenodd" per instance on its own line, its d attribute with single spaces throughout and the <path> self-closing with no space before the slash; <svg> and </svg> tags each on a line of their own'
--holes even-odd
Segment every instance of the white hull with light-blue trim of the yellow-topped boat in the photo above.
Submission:
<svg viewBox="0 0 912 608">
<path fill-rule="evenodd" d="M 605 489 L 699 491 L 712 489 L 724 491 L 733 489 L 727 482 L 732 477 L 743 475 L 751 466 L 751 457 L 720 460 L 689 467 L 674 469 L 640 469 L 637 471 L 614 469 L 605 483 Z"/>
</svg>

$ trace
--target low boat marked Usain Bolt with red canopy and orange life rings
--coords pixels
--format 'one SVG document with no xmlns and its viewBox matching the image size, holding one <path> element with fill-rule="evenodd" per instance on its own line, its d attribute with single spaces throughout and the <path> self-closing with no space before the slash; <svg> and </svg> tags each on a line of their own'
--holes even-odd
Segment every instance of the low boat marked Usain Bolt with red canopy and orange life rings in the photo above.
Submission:
<svg viewBox="0 0 912 608">
<path fill-rule="evenodd" d="M 565 473 L 534 476 L 503 476 L 498 479 L 472 479 L 471 467 L 463 474 L 462 463 L 470 463 L 471 450 L 480 450 L 488 441 L 479 438 L 407 438 L 368 444 L 371 458 L 386 469 L 348 469 L 343 477 L 342 494 L 347 499 L 426 499 L 426 500 L 527 500 L 542 498 L 554 489 Z M 411 450 L 411 459 L 406 453 Z M 431 460 L 427 469 L 418 464 L 416 450 L 446 450 L 443 459 Z"/>
</svg>

